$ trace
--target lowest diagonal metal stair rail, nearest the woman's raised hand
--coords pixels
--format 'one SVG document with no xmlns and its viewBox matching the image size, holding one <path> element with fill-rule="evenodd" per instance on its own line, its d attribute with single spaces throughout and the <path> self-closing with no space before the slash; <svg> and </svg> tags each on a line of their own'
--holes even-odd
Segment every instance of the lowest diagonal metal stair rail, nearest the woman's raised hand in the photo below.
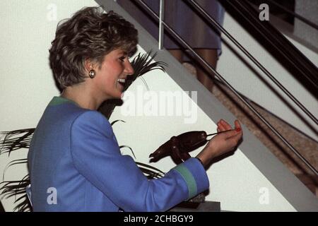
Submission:
<svg viewBox="0 0 318 226">
<path fill-rule="evenodd" d="M 157 16 L 157 14 L 147 6 L 147 4 L 145 4 L 142 0 L 135 0 L 135 1 L 138 1 L 141 6 L 143 8 L 146 8 L 146 10 L 148 12 L 150 12 L 152 14 L 152 16 L 155 17 L 155 19 L 160 19 L 159 16 Z M 318 175 L 318 172 L 317 170 L 312 166 L 310 165 L 310 162 L 307 162 L 307 160 L 302 157 L 302 155 L 298 152 L 298 150 L 296 150 L 293 145 L 291 145 L 282 135 L 281 133 L 279 133 L 273 126 L 271 126 L 271 124 L 269 123 L 269 121 L 267 121 L 266 119 L 264 119 L 264 117 L 261 116 L 261 114 L 259 114 L 259 112 L 257 112 L 256 109 L 254 109 L 254 107 L 252 105 L 249 104 L 249 102 L 247 102 L 247 100 L 245 100 L 244 97 L 242 97 L 242 95 L 240 95 L 240 93 L 238 93 L 235 88 L 232 87 L 232 85 L 230 85 L 230 83 L 228 83 L 228 81 L 225 80 L 225 78 L 223 78 L 222 76 L 220 76 L 220 74 L 215 70 L 213 69 L 213 67 L 211 67 L 210 64 L 208 64 L 203 58 L 201 58 L 199 56 L 199 54 L 197 54 L 194 49 L 192 49 L 192 47 L 189 46 L 189 44 L 187 44 L 187 42 L 185 42 L 182 37 L 180 37 L 172 28 L 170 28 L 169 25 L 167 25 L 164 21 L 161 21 L 161 23 L 165 26 L 165 28 L 167 29 L 168 32 L 170 32 L 171 35 L 173 35 L 175 38 L 177 38 L 177 40 L 179 40 L 179 42 L 182 43 L 182 45 L 184 45 L 184 47 L 186 47 L 190 52 L 192 52 L 192 54 L 194 54 L 194 56 L 199 59 L 199 61 L 201 61 L 202 64 L 204 64 L 204 66 L 206 66 L 206 68 L 208 68 L 210 71 L 212 71 L 214 73 L 214 75 L 220 79 L 220 81 L 222 81 L 226 86 L 228 86 L 228 88 L 243 102 L 245 103 L 245 105 L 247 105 L 247 107 L 249 107 L 250 110 L 252 110 L 252 112 L 254 112 L 254 114 L 257 115 L 257 117 L 259 117 L 259 119 L 261 119 L 261 121 L 266 124 L 266 126 L 269 127 L 269 129 L 271 129 L 271 131 L 273 131 L 273 133 L 276 134 L 276 136 L 278 136 L 278 138 L 281 139 L 281 141 L 283 141 L 283 143 L 285 143 L 285 145 L 288 146 L 288 148 L 290 148 L 290 150 L 293 151 L 293 153 L 295 153 L 295 155 L 297 155 L 300 160 L 302 160 L 302 162 L 305 163 L 305 165 L 307 165 L 307 167 L 309 167 L 312 172 L 314 172 L 314 174 Z"/>
</svg>

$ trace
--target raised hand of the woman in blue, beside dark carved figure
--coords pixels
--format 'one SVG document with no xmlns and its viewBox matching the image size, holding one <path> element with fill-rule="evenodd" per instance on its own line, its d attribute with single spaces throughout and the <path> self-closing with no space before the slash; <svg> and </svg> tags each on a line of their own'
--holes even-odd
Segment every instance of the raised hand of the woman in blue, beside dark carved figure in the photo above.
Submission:
<svg viewBox="0 0 318 226">
<path fill-rule="evenodd" d="M 206 144 L 206 147 L 204 150 L 199 153 L 196 157 L 199 157 L 199 159 L 202 161 L 204 166 L 208 165 L 213 158 L 218 157 L 220 155 L 223 155 L 225 153 L 230 152 L 233 150 L 237 143 L 242 138 L 242 127 L 240 125 L 240 122 L 238 120 L 235 120 L 235 128 L 232 129 L 232 126 L 228 124 L 223 119 L 220 119 L 217 123 L 218 125 L 218 132 L 231 130 L 228 132 L 220 133 L 213 138 L 211 138 L 210 141 Z"/>
</svg>

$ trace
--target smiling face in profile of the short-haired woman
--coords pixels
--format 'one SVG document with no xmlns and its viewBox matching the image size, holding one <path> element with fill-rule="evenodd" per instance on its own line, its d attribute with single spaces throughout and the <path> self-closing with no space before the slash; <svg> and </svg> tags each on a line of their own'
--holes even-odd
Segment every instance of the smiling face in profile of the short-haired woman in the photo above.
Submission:
<svg viewBox="0 0 318 226">
<path fill-rule="evenodd" d="M 96 76 L 93 79 L 98 91 L 107 99 L 118 99 L 122 97 L 125 82 L 128 75 L 134 73 L 126 52 L 121 49 L 114 49 L 104 57 L 102 66 L 96 70 Z"/>
</svg>

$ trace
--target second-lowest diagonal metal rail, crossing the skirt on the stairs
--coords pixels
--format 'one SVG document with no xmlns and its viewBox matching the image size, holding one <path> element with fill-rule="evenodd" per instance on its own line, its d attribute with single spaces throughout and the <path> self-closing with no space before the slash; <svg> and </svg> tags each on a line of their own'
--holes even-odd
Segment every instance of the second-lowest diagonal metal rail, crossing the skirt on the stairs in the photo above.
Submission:
<svg viewBox="0 0 318 226">
<path fill-rule="evenodd" d="M 271 81 L 273 81 L 273 83 L 275 83 L 278 86 L 278 88 L 280 88 L 283 91 L 283 93 L 285 93 L 285 95 L 287 95 L 290 98 L 290 100 L 292 100 L 300 109 L 302 109 L 302 112 L 307 114 L 307 116 L 310 117 L 310 119 L 312 119 L 312 121 L 314 121 L 315 124 L 318 124 L 318 119 L 314 117 L 314 115 L 304 105 L 302 105 L 302 103 L 299 100 L 297 100 L 296 97 L 294 97 L 271 73 L 269 73 L 269 71 L 261 63 L 259 63 L 259 61 L 257 61 L 257 59 L 255 59 L 252 56 L 252 54 L 250 54 L 247 51 L 247 49 L 245 49 L 239 42 L 237 42 L 237 40 L 235 40 L 235 38 L 232 37 L 232 35 L 230 35 L 230 33 L 227 30 L 225 30 L 216 20 L 214 20 L 210 15 L 208 15 L 204 8 L 202 8 L 194 0 L 184 1 L 188 1 L 189 4 L 196 8 L 196 10 L 199 11 L 199 13 L 202 13 L 203 16 L 208 19 L 208 21 L 212 22 L 213 25 L 216 26 L 216 28 L 223 32 L 223 34 L 226 37 L 228 37 L 228 39 L 230 39 L 230 41 L 233 42 L 235 46 L 237 46 L 245 54 L 245 56 L 247 56 L 259 69 L 261 69 L 261 71 L 263 71 L 266 74 L 266 76 L 269 77 Z"/>
</svg>

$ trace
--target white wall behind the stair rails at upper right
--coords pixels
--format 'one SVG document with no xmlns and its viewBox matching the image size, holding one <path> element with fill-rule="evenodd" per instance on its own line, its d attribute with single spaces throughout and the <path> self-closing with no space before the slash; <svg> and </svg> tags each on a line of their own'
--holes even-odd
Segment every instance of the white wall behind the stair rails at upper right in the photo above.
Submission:
<svg viewBox="0 0 318 226">
<path fill-rule="evenodd" d="M 259 45 L 259 43 L 254 40 L 254 38 L 248 34 L 247 31 L 243 30 L 241 25 L 238 24 L 233 18 L 225 13 L 224 28 L 230 32 L 230 34 L 235 37 L 235 39 L 242 44 L 247 51 L 249 51 L 252 56 L 254 56 L 275 78 L 287 88 L 291 94 L 293 94 L 301 103 L 304 105 L 314 116 L 318 117 L 318 102 L 314 96 L 309 93 L 300 83 L 286 71 L 281 64 L 276 61 L 271 55 Z M 228 39 L 223 35 L 225 40 L 229 43 Z M 318 54 L 312 52 L 312 50 L 307 49 L 307 47 L 302 46 L 295 40 L 291 40 L 295 47 L 300 49 L 300 52 L 305 54 L 305 56 L 312 61 L 313 64 L 318 66 Z M 233 44 L 231 44 L 233 46 Z M 237 49 L 235 47 L 235 49 Z M 240 50 L 238 51 L 240 52 Z M 244 59 L 247 57 L 240 54 Z M 249 61 L 249 59 L 247 59 Z M 230 66 L 228 62 L 231 62 Z M 249 61 L 250 62 L 250 61 Z M 272 83 L 266 75 L 264 75 L 259 69 L 254 66 L 252 62 L 250 64 L 261 73 L 261 77 L 268 81 L 275 90 L 276 85 Z M 314 138 L 318 141 L 318 128 L 317 125 L 314 125 L 314 122 L 305 115 L 297 105 L 292 103 L 292 101 L 285 95 L 283 92 L 278 90 L 278 93 L 281 93 L 285 100 L 288 100 L 290 104 L 300 112 L 300 114 L 305 117 L 305 119 L 310 122 L 316 129 L 316 133 L 312 131 L 295 113 L 290 111 L 290 109 L 280 100 L 271 90 L 264 85 L 264 83 L 257 78 L 252 70 L 248 69 L 247 66 L 242 64 L 240 59 L 233 54 L 228 47 L 223 44 L 223 53 L 220 56 L 218 61 L 218 72 L 222 75 L 234 88 L 236 88 L 240 93 L 249 97 L 250 100 L 257 102 L 259 105 L 268 109 L 276 116 L 284 119 L 289 124 L 293 125 L 295 128 L 303 131 L 308 136 Z"/>
</svg>

